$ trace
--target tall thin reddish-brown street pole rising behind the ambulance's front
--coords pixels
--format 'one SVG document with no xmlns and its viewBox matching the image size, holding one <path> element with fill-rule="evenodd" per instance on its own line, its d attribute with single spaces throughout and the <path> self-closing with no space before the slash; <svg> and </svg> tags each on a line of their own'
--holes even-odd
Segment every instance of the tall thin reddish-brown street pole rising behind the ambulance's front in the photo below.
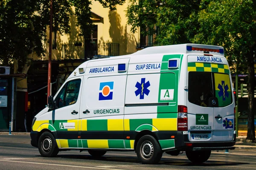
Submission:
<svg viewBox="0 0 256 170">
<path fill-rule="evenodd" d="M 51 94 L 51 81 L 52 81 L 52 0 L 50 0 L 50 31 L 49 31 L 47 103 L 48 103 L 48 96 L 50 96 L 50 94 Z"/>
</svg>

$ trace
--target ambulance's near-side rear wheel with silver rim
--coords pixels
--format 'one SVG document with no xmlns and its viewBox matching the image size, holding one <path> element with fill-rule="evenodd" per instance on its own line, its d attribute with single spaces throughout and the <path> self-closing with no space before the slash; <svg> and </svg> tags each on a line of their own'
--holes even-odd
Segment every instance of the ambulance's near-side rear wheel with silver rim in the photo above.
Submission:
<svg viewBox="0 0 256 170">
<path fill-rule="evenodd" d="M 143 164 L 156 164 L 163 155 L 160 145 L 151 135 L 145 135 L 140 138 L 137 143 L 136 153 Z"/>
</svg>

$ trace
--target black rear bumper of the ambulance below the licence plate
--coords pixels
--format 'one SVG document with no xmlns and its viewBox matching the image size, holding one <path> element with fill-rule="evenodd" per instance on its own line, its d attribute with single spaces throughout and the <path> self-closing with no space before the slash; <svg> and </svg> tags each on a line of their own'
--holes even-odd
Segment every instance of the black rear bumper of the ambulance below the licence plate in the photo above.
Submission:
<svg viewBox="0 0 256 170">
<path fill-rule="evenodd" d="M 190 142 L 188 135 L 183 135 L 182 132 L 177 133 L 175 139 L 175 149 L 186 150 L 234 150 L 236 144 L 236 134 L 234 134 L 232 141 L 218 141 L 218 142 Z"/>
</svg>

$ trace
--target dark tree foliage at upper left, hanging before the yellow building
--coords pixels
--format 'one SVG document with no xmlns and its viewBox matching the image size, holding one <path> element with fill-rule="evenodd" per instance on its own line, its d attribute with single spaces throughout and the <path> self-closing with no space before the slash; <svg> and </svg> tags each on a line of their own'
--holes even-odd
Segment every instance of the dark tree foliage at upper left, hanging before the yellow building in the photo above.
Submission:
<svg viewBox="0 0 256 170">
<path fill-rule="evenodd" d="M 80 26 L 80 34 L 90 35 L 90 5 L 92 0 L 54 0 L 53 30 L 69 33 L 73 13 Z M 103 7 L 115 9 L 125 0 L 98 0 Z M 71 7 L 75 7 L 73 12 Z M 14 67 L 15 72 L 27 73 L 34 54 L 45 54 L 42 42 L 47 38 L 49 26 L 49 0 L 1 0 L 0 1 L 0 62 Z M 14 63 L 17 63 L 15 65 Z"/>
</svg>

